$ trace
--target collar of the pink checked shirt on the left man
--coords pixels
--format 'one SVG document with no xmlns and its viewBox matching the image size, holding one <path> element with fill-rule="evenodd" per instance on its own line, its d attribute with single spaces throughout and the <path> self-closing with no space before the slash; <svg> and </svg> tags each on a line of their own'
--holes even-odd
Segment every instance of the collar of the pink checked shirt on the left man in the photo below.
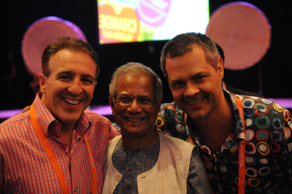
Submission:
<svg viewBox="0 0 292 194">
<path fill-rule="evenodd" d="M 40 100 L 41 92 L 37 93 L 37 96 L 34 101 L 35 112 L 37 116 L 37 121 L 44 131 L 46 136 L 61 136 L 61 125 L 54 116 L 50 113 L 47 107 Z M 88 129 L 91 127 L 90 118 L 83 112 L 80 118 L 77 120 L 75 124 L 75 131 L 83 136 Z"/>
</svg>

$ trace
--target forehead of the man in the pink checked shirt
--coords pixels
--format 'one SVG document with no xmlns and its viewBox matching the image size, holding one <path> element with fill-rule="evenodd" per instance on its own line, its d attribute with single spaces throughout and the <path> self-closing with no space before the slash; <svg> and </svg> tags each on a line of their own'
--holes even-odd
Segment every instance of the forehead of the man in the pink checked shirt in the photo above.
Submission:
<svg viewBox="0 0 292 194">
<path fill-rule="evenodd" d="M 51 72 L 70 69 L 71 71 L 82 71 L 95 77 L 96 65 L 91 56 L 84 52 L 62 49 L 58 51 L 51 60 Z"/>
</svg>

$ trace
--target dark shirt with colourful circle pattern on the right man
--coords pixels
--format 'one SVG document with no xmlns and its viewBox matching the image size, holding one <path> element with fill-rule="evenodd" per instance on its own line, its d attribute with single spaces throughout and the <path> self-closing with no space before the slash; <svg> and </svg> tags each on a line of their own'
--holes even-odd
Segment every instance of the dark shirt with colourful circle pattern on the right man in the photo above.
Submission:
<svg viewBox="0 0 292 194">
<path fill-rule="evenodd" d="M 228 93 L 234 107 L 236 126 L 214 153 L 175 102 L 163 104 L 156 125 L 165 135 L 201 147 L 201 159 L 214 194 L 238 193 L 238 143 L 245 139 L 245 193 L 292 193 L 291 113 L 273 101 Z M 243 104 L 245 135 L 235 97 Z M 240 134 L 241 133 L 241 134 Z M 239 135 L 240 134 L 240 135 Z"/>
</svg>

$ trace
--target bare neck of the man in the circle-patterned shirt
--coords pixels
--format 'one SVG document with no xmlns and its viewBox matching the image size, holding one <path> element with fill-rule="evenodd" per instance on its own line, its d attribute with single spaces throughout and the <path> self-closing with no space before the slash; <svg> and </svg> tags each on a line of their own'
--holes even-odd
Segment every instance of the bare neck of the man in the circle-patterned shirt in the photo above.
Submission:
<svg viewBox="0 0 292 194">
<path fill-rule="evenodd" d="M 192 119 L 195 129 L 199 131 L 209 147 L 217 153 L 226 137 L 235 126 L 232 101 L 223 93 L 216 108 L 206 118 Z"/>
</svg>

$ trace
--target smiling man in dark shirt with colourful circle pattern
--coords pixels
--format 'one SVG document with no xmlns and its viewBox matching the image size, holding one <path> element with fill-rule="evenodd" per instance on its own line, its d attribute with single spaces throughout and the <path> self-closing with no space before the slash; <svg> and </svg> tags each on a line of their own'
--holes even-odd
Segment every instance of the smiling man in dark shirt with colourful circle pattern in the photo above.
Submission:
<svg viewBox="0 0 292 194">
<path fill-rule="evenodd" d="M 174 37 L 164 46 L 161 64 L 175 101 L 161 106 L 157 126 L 200 147 L 214 194 L 292 192 L 289 111 L 264 98 L 222 90 L 223 62 L 204 34 Z"/>
</svg>

